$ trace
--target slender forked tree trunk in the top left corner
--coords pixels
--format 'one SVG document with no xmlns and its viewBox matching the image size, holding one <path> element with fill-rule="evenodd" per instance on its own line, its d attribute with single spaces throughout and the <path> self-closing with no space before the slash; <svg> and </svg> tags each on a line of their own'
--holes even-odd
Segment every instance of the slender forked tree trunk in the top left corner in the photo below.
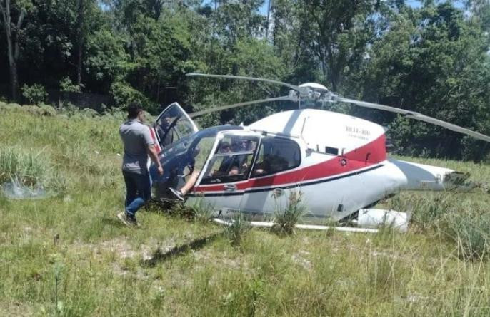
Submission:
<svg viewBox="0 0 490 317">
<path fill-rule="evenodd" d="M 21 32 L 24 18 L 30 6 L 30 1 L 18 1 L 15 4 L 11 4 L 11 0 L 0 1 L 0 12 L 4 21 L 6 33 L 11 98 L 13 100 L 17 100 L 17 95 L 19 93 L 19 74 L 17 73 L 17 61 L 19 60 L 19 33 Z M 15 16 L 17 18 L 16 23 L 14 23 Z"/>
</svg>

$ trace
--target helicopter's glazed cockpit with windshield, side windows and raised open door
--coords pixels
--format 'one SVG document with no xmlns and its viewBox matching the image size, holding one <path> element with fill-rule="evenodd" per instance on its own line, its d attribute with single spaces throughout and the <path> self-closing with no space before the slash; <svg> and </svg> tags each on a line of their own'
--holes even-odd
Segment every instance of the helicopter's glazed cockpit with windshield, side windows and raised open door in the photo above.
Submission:
<svg viewBox="0 0 490 317">
<path fill-rule="evenodd" d="M 169 187 L 179 189 L 190 184 L 196 188 L 224 185 L 231 190 L 236 182 L 291 170 L 301 162 L 299 145 L 289 137 L 234 125 L 199 131 L 177 103 L 159 115 L 154 132 L 164 167 L 161 176 L 154 165 L 150 167 L 154 197 L 159 199 L 174 197 Z"/>
</svg>

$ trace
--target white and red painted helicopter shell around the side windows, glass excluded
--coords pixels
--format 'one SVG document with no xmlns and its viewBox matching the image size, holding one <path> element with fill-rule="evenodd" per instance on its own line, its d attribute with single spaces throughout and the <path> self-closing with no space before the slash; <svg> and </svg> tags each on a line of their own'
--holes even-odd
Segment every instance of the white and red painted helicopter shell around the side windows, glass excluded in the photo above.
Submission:
<svg viewBox="0 0 490 317">
<path fill-rule="evenodd" d="M 269 175 L 256 175 L 254 161 L 248 175 L 235 182 L 202 182 L 220 140 L 226 136 L 274 136 L 294 141 L 299 165 Z M 344 219 L 403 189 L 444 190 L 454 171 L 386 157 L 381 125 L 325 110 L 291 110 L 270 115 L 243 130 L 221 130 L 189 194 L 186 204 L 204 199 L 216 212 L 273 214 L 301 192 L 309 215 Z"/>
</svg>

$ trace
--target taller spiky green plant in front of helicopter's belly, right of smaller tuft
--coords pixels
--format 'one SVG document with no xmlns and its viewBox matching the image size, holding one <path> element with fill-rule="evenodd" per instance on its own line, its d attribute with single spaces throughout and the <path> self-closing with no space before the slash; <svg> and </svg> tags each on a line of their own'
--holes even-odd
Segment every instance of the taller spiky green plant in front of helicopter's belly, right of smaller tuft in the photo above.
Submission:
<svg viewBox="0 0 490 317">
<path fill-rule="evenodd" d="M 288 197 L 288 203 L 284 210 L 278 209 L 274 214 L 274 225 L 271 230 L 279 234 L 293 234 L 294 226 L 299 219 L 306 214 L 306 207 L 301 203 L 303 193 L 300 191 L 291 191 Z"/>
</svg>

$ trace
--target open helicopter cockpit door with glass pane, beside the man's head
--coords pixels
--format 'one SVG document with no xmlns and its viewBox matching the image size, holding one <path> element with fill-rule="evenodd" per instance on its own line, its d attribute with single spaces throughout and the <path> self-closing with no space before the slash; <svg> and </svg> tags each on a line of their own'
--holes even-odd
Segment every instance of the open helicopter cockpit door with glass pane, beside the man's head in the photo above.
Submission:
<svg viewBox="0 0 490 317">
<path fill-rule="evenodd" d="M 172 103 L 162 111 L 153 125 L 156 140 L 161 149 L 199 131 L 196 123 L 187 115 L 179 103 Z"/>
</svg>

